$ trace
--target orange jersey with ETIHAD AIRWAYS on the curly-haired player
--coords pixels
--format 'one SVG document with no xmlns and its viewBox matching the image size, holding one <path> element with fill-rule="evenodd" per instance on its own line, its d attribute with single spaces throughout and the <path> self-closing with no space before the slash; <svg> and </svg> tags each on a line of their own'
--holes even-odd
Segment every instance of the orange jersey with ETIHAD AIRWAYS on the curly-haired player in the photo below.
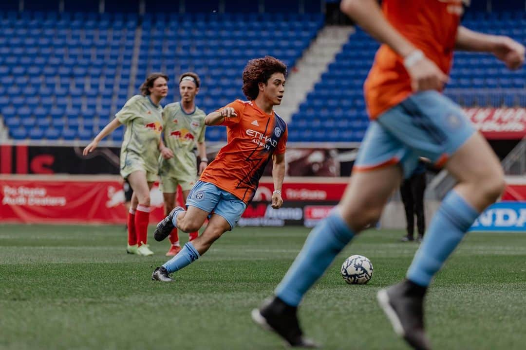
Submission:
<svg viewBox="0 0 526 350">
<path fill-rule="evenodd" d="M 236 110 L 227 126 L 227 144 L 201 174 L 209 182 L 245 203 L 254 197 L 259 179 L 272 154 L 285 153 L 287 124 L 279 115 L 267 114 L 253 101 L 236 100 L 226 107 Z"/>
</svg>

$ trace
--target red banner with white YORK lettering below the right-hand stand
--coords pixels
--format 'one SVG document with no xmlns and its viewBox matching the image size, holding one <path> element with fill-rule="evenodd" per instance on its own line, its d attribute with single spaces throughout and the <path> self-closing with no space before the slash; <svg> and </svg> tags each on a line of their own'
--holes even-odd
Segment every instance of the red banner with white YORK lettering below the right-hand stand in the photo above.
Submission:
<svg viewBox="0 0 526 350">
<path fill-rule="evenodd" d="M 526 136 L 524 108 L 466 108 L 464 111 L 489 140 L 520 140 Z"/>
</svg>

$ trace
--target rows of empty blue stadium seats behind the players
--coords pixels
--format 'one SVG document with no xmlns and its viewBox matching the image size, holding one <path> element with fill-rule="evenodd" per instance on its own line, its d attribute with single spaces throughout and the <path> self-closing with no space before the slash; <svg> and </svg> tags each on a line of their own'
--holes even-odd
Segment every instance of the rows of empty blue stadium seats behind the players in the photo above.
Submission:
<svg viewBox="0 0 526 350">
<path fill-rule="evenodd" d="M 464 25 L 526 41 L 525 12 L 468 13 Z M 0 114 L 15 140 L 90 140 L 148 73 L 168 74 L 169 103 L 187 70 L 200 75 L 197 104 L 208 112 L 244 98 L 247 60 L 272 55 L 293 67 L 322 26 L 319 13 L 0 12 Z M 362 84 L 377 48 L 361 30 L 349 37 L 292 116 L 289 141 L 361 141 Z M 466 107 L 526 107 L 525 78 L 490 55 L 458 52 L 445 93 Z M 206 136 L 226 139 L 222 128 Z"/>
</svg>

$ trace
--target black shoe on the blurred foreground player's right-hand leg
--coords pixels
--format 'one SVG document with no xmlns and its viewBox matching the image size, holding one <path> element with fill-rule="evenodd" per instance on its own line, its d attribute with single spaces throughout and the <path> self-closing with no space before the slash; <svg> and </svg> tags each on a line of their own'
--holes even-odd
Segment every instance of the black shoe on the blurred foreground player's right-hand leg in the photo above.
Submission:
<svg viewBox="0 0 526 350">
<path fill-rule="evenodd" d="M 423 300 L 426 288 L 404 280 L 387 289 L 378 291 L 378 303 L 399 336 L 413 349 L 430 350 L 424 331 Z"/>
</svg>

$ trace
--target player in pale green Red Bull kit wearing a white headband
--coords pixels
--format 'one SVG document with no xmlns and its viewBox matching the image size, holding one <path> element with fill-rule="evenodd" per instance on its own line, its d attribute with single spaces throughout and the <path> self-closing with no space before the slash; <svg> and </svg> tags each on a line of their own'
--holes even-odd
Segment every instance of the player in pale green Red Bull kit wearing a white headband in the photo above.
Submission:
<svg viewBox="0 0 526 350">
<path fill-rule="evenodd" d="M 167 104 L 163 109 L 164 144 L 161 145 L 159 161 L 159 189 L 163 193 L 165 215 L 175 208 L 177 186 L 183 191 L 183 201 L 197 181 L 196 155 L 199 153 L 199 175 L 208 165 L 205 144 L 206 114 L 196 107 L 195 98 L 199 92 L 199 76 L 186 72 L 179 78 L 180 102 Z M 161 141 L 162 142 L 162 141 Z M 189 241 L 197 238 L 197 231 L 190 232 Z M 181 250 L 177 227 L 170 233 L 170 249 L 166 256 L 175 256 Z"/>
</svg>

